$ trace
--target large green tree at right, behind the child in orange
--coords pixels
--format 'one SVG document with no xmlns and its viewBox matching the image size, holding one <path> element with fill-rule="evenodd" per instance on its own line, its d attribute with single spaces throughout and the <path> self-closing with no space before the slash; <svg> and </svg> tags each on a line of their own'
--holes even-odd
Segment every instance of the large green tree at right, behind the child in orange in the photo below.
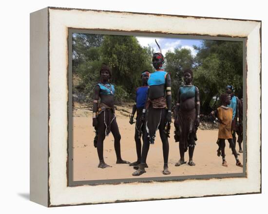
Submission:
<svg viewBox="0 0 268 214">
<path fill-rule="evenodd" d="M 243 43 L 204 40 L 195 49 L 194 84 L 200 91 L 201 111 L 207 114 L 227 85 L 233 85 L 237 92 L 242 90 Z"/>
</svg>

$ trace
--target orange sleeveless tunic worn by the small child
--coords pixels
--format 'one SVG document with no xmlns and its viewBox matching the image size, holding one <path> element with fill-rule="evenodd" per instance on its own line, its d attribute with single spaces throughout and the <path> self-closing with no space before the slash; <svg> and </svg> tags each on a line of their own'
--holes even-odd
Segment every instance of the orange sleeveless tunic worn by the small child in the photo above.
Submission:
<svg viewBox="0 0 268 214">
<path fill-rule="evenodd" d="M 221 120 L 222 123 L 219 125 L 219 134 L 218 138 L 220 139 L 232 139 L 231 133 L 231 123 L 232 123 L 232 108 L 228 107 L 218 107 L 217 108 L 217 117 Z"/>
</svg>

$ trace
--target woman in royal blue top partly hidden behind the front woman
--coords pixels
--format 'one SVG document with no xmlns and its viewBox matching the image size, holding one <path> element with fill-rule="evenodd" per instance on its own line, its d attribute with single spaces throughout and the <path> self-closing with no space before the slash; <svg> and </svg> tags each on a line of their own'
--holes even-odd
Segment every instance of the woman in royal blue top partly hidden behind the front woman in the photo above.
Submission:
<svg viewBox="0 0 268 214">
<path fill-rule="evenodd" d="M 136 98 L 135 98 L 135 104 L 133 105 L 132 108 L 132 114 L 130 115 L 130 121 L 129 123 L 132 125 L 134 124 L 133 118 L 135 112 L 137 112 L 137 117 L 136 117 L 136 125 L 135 125 L 135 143 L 136 143 L 136 153 L 137 153 L 137 161 L 134 161 L 130 163 L 130 166 L 134 166 L 137 169 L 137 165 L 140 164 L 140 159 L 141 159 L 141 135 L 142 135 L 142 126 L 143 126 L 143 121 L 141 121 L 141 116 L 142 116 L 142 109 L 145 106 L 145 102 L 147 99 L 147 93 L 148 93 L 148 79 L 149 79 L 149 71 L 143 71 L 141 74 L 142 78 L 142 86 L 138 87 L 136 89 Z"/>
</svg>

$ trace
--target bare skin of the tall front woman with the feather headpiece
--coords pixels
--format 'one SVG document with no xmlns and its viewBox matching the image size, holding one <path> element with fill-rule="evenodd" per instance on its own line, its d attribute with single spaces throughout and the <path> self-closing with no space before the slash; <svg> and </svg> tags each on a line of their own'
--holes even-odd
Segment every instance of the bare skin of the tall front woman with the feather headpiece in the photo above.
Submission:
<svg viewBox="0 0 268 214">
<path fill-rule="evenodd" d="M 159 58 L 159 54 L 153 54 L 152 63 L 153 63 L 153 67 L 156 70 L 159 70 L 162 67 L 164 61 L 162 58 Z M 171 90 L 167 89 L 167 87 L 171 87 L 171 77 L 169 74 L 167 74 L 166 76 L 165 84 L 150 86 L 148 90 L 148 98 L 152 100 L 152 99 L 157 99 L 157 98 L 166 96 L 167 108 L 169 112 L 167 112 L 166 114 L 165 123 L 171 123 L 172 97 L 171 97 Z M 141 119 L 144 120 L 144 118 L 145 118 L 145 113 L 143 113 L 143 116 Z M 163 125 L 159 126 L 160 138 L 163 144 L 163 156 L 164 156 L 163 174 L 169 175 L 170 174 L 169 167 L 168 167 L 169 143 L 168 143 L 168 136 L 164 132 L 164 129 L 165 129 L 165 126 Z M 147 154 L 149 151 L 149 146 L 150 146 L 149 142 L 143 143 L 141 163 L 139 164 L 138 170 L 132 174 L 133 176 L 139 176 L 146 172 L 145 166 L 146 166 L 146 158 L 147 158 Z"/>
</svg>

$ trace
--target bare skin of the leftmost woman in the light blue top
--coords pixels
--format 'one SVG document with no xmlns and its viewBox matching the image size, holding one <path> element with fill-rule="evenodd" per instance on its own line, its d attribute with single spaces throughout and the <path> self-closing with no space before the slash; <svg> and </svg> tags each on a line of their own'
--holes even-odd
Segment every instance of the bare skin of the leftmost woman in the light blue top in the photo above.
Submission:
<svg viewBox="0 0 268 214">
<path fill-rule="evenodd" d="M 107 86 L 109 85 L 109 78 L 110 78 L 110 73 L 109 71 L 103 70 L 100 72 L 100 77 L 101 77 L 101 83 L 106 84 Z M 100 98 L 100 102 L 106 104 L 109 107 L 114 108 L 114 95 L 109 94 L 109 95 L 101 95 L 100 94 L 100 87 L 96 86 L 94 89 L 94 100 L 98 101 Z M 98 109 L 98 103 L 94 102 L 93 104 L 93 113 L 96 113 Z M 99 115 L 98 117 L 101 117 Z M 97 139 L 97 152 L 98 152 L 98 157 L 99 157 L 99 168 L 106 168 L 106 167 L 112 167 L 104 162 L 103 159 L 103 141 L 105 139 L 105 133 L 104 133 L 104 126 L 100 123 L 98 124 L 98 119 L 100 118 L 93 118 L 93 126 L 98 129 L 98 139 Z M 116 153 L 116 163 L 130 163 L 129 161 L 122 160 L 121 159 L 121 153 L 120 153 L 120 133 L 119 129 L 115 121 L 111 124 L 111 132 L 115 138 L 115 153 Z"/>
</svg>

